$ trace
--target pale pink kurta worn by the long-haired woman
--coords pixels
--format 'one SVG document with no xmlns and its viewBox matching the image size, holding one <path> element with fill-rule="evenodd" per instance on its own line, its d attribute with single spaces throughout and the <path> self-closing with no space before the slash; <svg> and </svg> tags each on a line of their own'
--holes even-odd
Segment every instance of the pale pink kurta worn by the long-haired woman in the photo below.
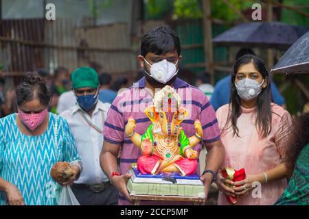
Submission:
<svg viewBox="0 0 309 219">
<path fill-rule="evenodd" d="M 257 175 L 262 171 L 275 168 L 284 158 L 284 147 L 290 133 L 292 118 L 279 105 L 272 103 L 272 129 L 266 138 L 259 138 L 255 127 L 256 108 L 245 109 L 237 120 L 239 136 L 233 136 L 231 123 L 227 131 L 221 133 L 222 143 L 225 145 L 225 162 L 222 167 L 236 170 L 244 168 L 246 175 Z M 229 105 L 223 105 L 216 112 L 220 130 L 225 127 Z M 286 179 L 262 184 L 261 198 L 253 198 L 251 192 L 238 198 L 236 205 L 273 205 L 286 188 Z M 218 205 L 231 205 L 225 195 L 219 192 Z"/>
</svg>

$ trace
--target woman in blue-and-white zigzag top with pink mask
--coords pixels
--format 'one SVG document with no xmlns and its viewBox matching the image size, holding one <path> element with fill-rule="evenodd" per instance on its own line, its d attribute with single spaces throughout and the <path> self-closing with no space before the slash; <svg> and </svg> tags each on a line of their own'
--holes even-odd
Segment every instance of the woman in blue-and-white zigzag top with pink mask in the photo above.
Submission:
<svg viewBox="0 0 309 219">
<path fill-rule="evenodd" d="M 68 162 L 76 170 L 82 164 L 67 121 L 47 112 L 50 94 L 45 81 L 29 74 L 17 86 L 18 114 L 0 120 L 0 205 L 56 205 L 50 170 L 56 162 Z"/>
</svg>

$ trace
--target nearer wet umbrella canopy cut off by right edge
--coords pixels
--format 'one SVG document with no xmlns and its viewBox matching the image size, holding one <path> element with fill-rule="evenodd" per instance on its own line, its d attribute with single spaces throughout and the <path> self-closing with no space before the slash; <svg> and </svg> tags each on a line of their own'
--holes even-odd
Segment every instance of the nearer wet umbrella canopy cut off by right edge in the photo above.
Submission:
<svg viewBox="0 0 309 219">
<path fill-rule="evenodd" d="M 271 73 L 309 73 L 309 31 L 301 36 L 273 66 Z"/>
</svg>

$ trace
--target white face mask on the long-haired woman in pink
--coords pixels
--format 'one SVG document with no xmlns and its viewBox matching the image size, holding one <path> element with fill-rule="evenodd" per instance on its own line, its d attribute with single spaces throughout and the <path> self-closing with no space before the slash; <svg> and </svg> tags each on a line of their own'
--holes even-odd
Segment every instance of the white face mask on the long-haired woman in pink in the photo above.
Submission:
<svg viewBox="0 0 309 219">
<path fill-rule="evenodd" d="M 259 83 L 258 81 L 255 81 L 253 79 L 242 79 L 235 83 L 237 93 L 240 96 L 240 98 L 244 101 L 251 101 L 252 99 L 255 99 L 255 97 L 260 94 L 262 91 L 262 84 L 264 83 L 264 79 L 262 83 Z"/>
</svg>

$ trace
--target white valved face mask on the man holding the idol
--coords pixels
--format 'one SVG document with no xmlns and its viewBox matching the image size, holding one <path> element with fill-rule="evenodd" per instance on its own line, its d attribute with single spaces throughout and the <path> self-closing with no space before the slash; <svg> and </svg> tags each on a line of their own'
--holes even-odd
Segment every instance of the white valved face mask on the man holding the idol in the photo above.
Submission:
<svg viewBox="0 0 309 219">
<path fill-rule="evenodd" d="M 144 60 L 150 66 L 150 75 L 146 70 L 144 70 L 145 73 L 160 83 L 167 83 L 178 73 L 178 69 L 176 70 L 176 64 L 179 60 L 177 60 L 175 64 L 168 62 L 167 60 L 161 60 L 160 62 L 149 64 L 145 58 Z"/>
</svg>

